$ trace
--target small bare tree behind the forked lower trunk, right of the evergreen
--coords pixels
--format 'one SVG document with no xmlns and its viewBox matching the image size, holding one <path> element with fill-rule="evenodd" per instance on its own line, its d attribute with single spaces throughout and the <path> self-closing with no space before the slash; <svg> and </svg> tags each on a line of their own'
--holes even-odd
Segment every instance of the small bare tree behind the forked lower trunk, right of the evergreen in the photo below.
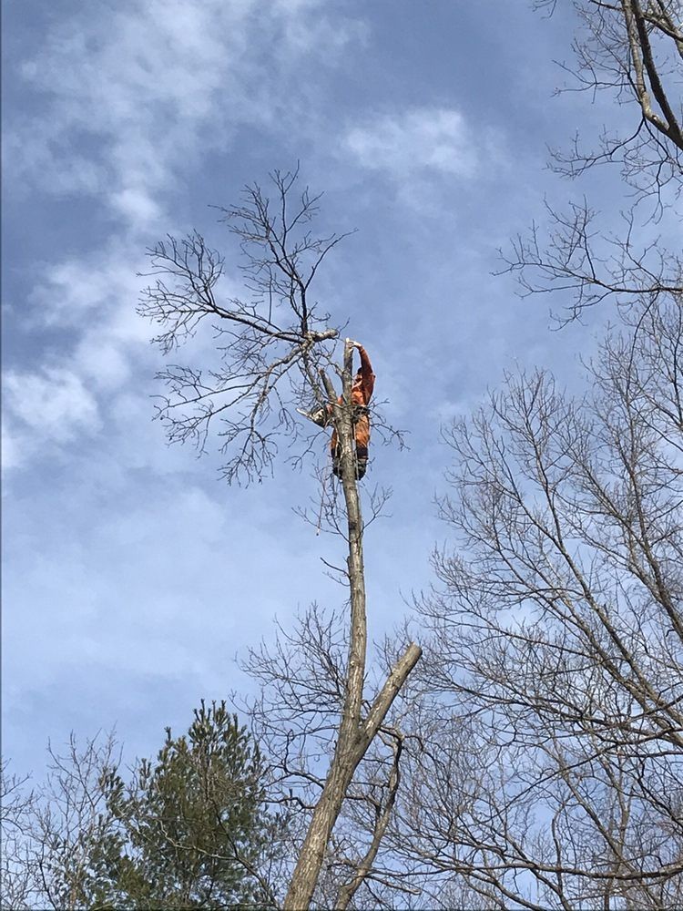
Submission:
<svg viewBox="0 0 683 911">
<path fill-rule="evenodd" d="M 382 686 L 404 643 L 379 654 L 367 689 Z M 244 670 L 259 684 L 258 698 L 240 707 L 250 715 L 259 742 L 271 757 L 270 799 L 291 808 L 292 824 L 305 831 L 325 786 L 344 705 L 348 653 L 345 610 L 318 605 L 303 611 L 296 625 L 280 629 L 274 646 L 252 650 Z M 403 763 L 401 697 L 380 726 L 350 784 L 321 868 L 314 901 L 320 907 L 383 907 L 377 890 L 392 898 L 416 890 L 392 877 L 382 841 L 392 815 Z M 363 700 L 363 714 L 372 703 Z M 390 905 L 391 906 L 391 905 Z"/>
</svg>

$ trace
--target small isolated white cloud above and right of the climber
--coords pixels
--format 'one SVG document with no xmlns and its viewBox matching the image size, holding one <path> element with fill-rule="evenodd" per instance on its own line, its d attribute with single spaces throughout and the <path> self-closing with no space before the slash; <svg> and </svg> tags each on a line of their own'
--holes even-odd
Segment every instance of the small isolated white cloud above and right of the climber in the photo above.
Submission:
<svg viewBox="0 0 683 911">
<path fill-rule="evenodd" d="M 344 147 L 363 168 L 388 171 L 398 179 L 420 171 L 469 177 L 480 154 L 463 115 L 447 107 L 368 120 L 348 130 Z"/>
</svg>

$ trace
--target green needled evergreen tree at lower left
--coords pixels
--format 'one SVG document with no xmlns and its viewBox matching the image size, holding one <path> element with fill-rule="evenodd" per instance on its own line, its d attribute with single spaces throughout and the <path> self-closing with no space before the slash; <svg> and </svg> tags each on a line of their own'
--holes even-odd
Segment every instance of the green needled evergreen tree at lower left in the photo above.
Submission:
<svg viewBox="0 0 683 911">
<path fill-rule="evenodd" d="M 117 907 L 263 906 L 255 876 L 271 843 L 263 808 L 263 759 L 225 703 L 202 701 L 187 735 L 143 760 L 125 785 L 111 773 L 107 805 L 116 831 L 101 866 Z"/>
</svg>

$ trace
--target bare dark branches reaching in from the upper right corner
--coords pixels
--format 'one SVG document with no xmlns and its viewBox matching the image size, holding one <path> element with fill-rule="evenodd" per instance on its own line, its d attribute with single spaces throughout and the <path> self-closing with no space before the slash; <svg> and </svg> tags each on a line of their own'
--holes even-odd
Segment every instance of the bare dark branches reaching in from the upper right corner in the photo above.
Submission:
<svg viewBox="0 0 683 911">
<path fill-rule="evenodd" d="M 555 7 L 552 0 L 535 5 Z M 553 153 L 551 167 L 578 179 L 588 169 L 617 165 L 631 193 L 621 203 L 621 224 L 607 227 L 586 198 L 568 210 L 548 204 L 547 224 L 534 223 L 502 253 L 505 270 L 515 272 L 524 294 L 562 296 L 561 322 L 606 299 L 628 306 L 683 288 L 678 245 L 667 251 L 657 230 L 662 220 L 667 227 L 683 177 L 683 5 L 576 0 L 574 7 L 581 27 L 573 46 L 576 65 L 564 67 L 571 79 L 566 90 L 605 93 L 627 122 L 604 128 L 594 150 L 576 136 L 568 152 Z"/>
</svg>

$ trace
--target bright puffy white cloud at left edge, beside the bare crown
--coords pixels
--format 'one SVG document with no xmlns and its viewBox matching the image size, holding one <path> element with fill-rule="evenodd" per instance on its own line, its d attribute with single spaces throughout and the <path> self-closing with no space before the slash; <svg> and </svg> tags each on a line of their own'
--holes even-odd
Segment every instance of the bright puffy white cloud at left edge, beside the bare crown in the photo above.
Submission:
<svg viewBox="0 0 683 911">
<path fill-rule="evenodd" d="M 148 324 L 135 312 L 139 251 L 116 244 L 82 259 L 44 266 L 24 327 L 61 329 L 67 343 L 44 350 L 44 365 L 6 371 L 5 471 L 66 446 L 101 426 L 136 367 L 153 374 Z"/>
</svg>

